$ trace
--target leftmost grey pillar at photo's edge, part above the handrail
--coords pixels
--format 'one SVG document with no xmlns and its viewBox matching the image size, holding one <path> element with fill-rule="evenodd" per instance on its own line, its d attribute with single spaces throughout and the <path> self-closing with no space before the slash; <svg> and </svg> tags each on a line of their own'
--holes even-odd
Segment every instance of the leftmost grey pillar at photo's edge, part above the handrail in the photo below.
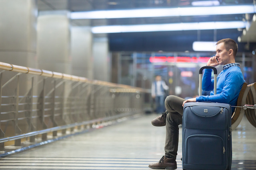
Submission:
<svg viewBox="0 0 256 170">
<path fill-rule="evenodd" d="M 35 68 L 35 0 L 0 0 L 0 61 Z"/>
</svg>

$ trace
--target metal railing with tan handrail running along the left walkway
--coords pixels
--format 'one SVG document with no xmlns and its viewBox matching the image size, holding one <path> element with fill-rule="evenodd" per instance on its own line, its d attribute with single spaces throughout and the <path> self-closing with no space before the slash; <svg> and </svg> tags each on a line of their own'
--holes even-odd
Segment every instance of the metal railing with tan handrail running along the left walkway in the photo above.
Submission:
<svg viewBox="0 0 256 170">
<path fill-rule="evenodd" d="M 0 62 L 0 152 L 142 113 L 141 88 Z M 29 139 L 28 139 L 29 138 Z M 10 143 L 10 141 L 14 141 Z"/>
</svg>

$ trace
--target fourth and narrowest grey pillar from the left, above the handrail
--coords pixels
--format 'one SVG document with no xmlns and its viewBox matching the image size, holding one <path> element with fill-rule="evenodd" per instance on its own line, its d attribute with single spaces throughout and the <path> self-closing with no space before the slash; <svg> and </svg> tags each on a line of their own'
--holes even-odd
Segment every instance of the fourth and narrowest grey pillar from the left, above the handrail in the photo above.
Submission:
<svg viewBox="0 0 256 170">
<path fill-rule="evenodd" d="M 93 58 L 94 58 L 94 79 L 110 81 L 110 55 L 108 53 L 108 38 L 94 38 Z"/>
</svg>

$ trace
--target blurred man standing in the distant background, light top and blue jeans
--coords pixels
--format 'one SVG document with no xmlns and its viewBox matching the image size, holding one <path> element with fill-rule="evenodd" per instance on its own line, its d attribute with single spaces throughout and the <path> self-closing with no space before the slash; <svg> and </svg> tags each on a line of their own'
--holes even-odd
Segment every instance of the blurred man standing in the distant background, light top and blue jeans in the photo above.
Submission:
<svg viewBox="0 0 256 170">
<path fill-rule="evenodd" d="M 162 77 L 157 75 L 156 81 L 151 86 L 151 96 L 155 99 L 156 113 L 162 113 L 164 111 L 164 90 L 168 90 L 169 87 L 162 80 Z"/>
</svg>

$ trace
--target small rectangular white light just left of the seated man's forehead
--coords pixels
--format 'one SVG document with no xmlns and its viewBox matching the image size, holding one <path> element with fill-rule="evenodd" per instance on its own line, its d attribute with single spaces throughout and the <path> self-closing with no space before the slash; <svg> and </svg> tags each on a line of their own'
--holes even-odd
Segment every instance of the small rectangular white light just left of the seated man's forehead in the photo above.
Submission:
<svg viewBox="0 0 256 170">
<path fill-rule="evenodd" d="M 194 51 L 216 51 L 216 43 L 210 41 L 195 41 L 193 43 Z"/>
</svg>

